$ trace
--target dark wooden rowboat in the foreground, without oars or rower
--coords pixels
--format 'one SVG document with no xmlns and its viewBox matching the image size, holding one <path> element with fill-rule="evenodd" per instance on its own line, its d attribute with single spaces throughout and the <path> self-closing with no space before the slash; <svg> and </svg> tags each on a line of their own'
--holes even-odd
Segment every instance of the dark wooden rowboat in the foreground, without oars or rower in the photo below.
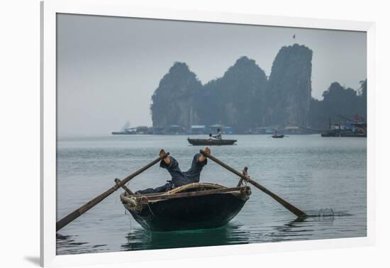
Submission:
<svg viewBox="0 0 390 268">
<path fill-rule="evenodd" d="M 250 187 L 194 183 L 157 194 L 121 194 L 123 206 L 151 231 L 218 228 L 233 219 L 251 194 Z"/>
</svg>

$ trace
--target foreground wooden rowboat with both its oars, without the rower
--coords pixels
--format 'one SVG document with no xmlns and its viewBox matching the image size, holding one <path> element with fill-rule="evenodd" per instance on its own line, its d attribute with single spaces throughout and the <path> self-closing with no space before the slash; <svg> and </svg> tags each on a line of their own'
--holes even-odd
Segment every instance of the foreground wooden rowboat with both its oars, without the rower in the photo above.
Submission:
<svg viewBox="0 0 390 268">
<path fill-rule="evenodd" d="M 195 183 L 177 187 L 172 191 L 162 194 L 133 194 L 125 184 L 130 182 L 130 179 L 133 179 L 138 174 L 167 157 L 169 155 L 169 152 L 167 152 L 128 175 L 122 181 L 118 178 L 114 179 L 116 185 L 58 220 L 55 227 L 56 232 L 79 216 L 82 216 L 120 187 L 125 190 L 125 193 L 121 194 L 123 205 L 130 211 L 140 225 L 149 230 L 188 230 L 218 228 L 225 225 L 240 212 L 247 199 L 249 199 L 250 188 L 248 186 L 241 186 L 243 180 L 249 182 L 257 189 L 264 191 L 264 193 L 271 196 L 297 217 L 306 217 L 306 213 L 299 208 L 296 208 L 296 206 L 277 196 L 277 194 L 272 193 L 272 191 L 269 191 L 261 184 L 250 179 L 247 176 L 247 167 L 244 168 L 243 174 L 241 174 L 221 160 L 210 155 L 210 153 L 203 150 L 200 150 L 200 152 L 202 155 L 213 160 L 213 162 L 220 164 L 225 169 L 238 175 L 241 178 L 238 186 L 235 188 L 227 188 L 218 184 Z"/>
</svg>

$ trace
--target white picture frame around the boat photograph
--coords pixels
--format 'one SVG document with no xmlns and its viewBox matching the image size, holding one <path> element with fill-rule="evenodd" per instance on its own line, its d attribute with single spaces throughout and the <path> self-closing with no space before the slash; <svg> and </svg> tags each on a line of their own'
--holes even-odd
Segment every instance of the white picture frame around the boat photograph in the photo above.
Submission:
<svg viewBox="0 0 390 268">
<path fill-rule="evenodd" d="M 367 32 L 367 96 L 369 135 L 367 137 L 367 237 L 309 240 L 218 247 L 194 247 L 135 252 L 56 255 L 56 14 L 73 13 L 97 16 L 158 18 L 179 21 L 238 23 Z M 40 264 L 44 267 L 134 262 L 143 259 L 176 259 L 221 255 L 247 255 L 262 252 L 330 249 L 374 245 L 374 145 L 375 145 L 375 26 L 372 22 L 335 21 L 317 18 L 261 16 L 241 13 L 141 8 L 126 1 L 45 1 L 41 2 L 41 182 L 40 182 Z"/>
</svg>

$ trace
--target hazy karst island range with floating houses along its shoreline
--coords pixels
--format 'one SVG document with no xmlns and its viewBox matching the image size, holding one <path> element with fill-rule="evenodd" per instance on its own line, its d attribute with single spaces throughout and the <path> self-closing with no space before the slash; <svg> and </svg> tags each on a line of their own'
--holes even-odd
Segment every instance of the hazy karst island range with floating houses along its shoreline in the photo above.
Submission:
<svg viewBox="0 0 390 268">
<path fill-rule="evenodd" d="M 152 126 L 125 125 L 113 134 L 313 134 L 367 136 L 367 79 L 360 88 L 331 83 L 311 96 L 313 51 L 282 47 L 267 77 L 240 57 L 223 77 L 201 84 L 184 62 L 174 62 L 151 96 Z M 169 108 L 167 108 L 169 104 Z"/>
</svg>

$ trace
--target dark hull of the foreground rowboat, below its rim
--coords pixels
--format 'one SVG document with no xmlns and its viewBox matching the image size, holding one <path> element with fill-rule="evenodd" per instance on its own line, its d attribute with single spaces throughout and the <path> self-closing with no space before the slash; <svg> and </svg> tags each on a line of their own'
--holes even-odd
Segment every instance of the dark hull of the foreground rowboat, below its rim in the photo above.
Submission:
<svg viewBox="0 0 390 268">
<path fill-rule="evenodd" d="M 245 190 L 244 190 L 245 189 Z M 214 190 L 218 191 L 218 190 Z M 223 188 L 223 191 L 228 191 Z M 193 194 L 185 193 L 184 195 Z M 160 201 L 140 198 L 138 208 L 125 207 L 133 218 L 145 229 L 156 232 L 219 228 L 233 219 L 249 199 L 250 188 L 238 191 L 182 196 Z M 180 194 L 179 194 L 180 195 Z M 165 195 L 167 196 L 167 195 Z M 149 197 L 150 198 L 150 197 Z M 121 195 L 123 202 L 123 195 Z"/>
</svg>

